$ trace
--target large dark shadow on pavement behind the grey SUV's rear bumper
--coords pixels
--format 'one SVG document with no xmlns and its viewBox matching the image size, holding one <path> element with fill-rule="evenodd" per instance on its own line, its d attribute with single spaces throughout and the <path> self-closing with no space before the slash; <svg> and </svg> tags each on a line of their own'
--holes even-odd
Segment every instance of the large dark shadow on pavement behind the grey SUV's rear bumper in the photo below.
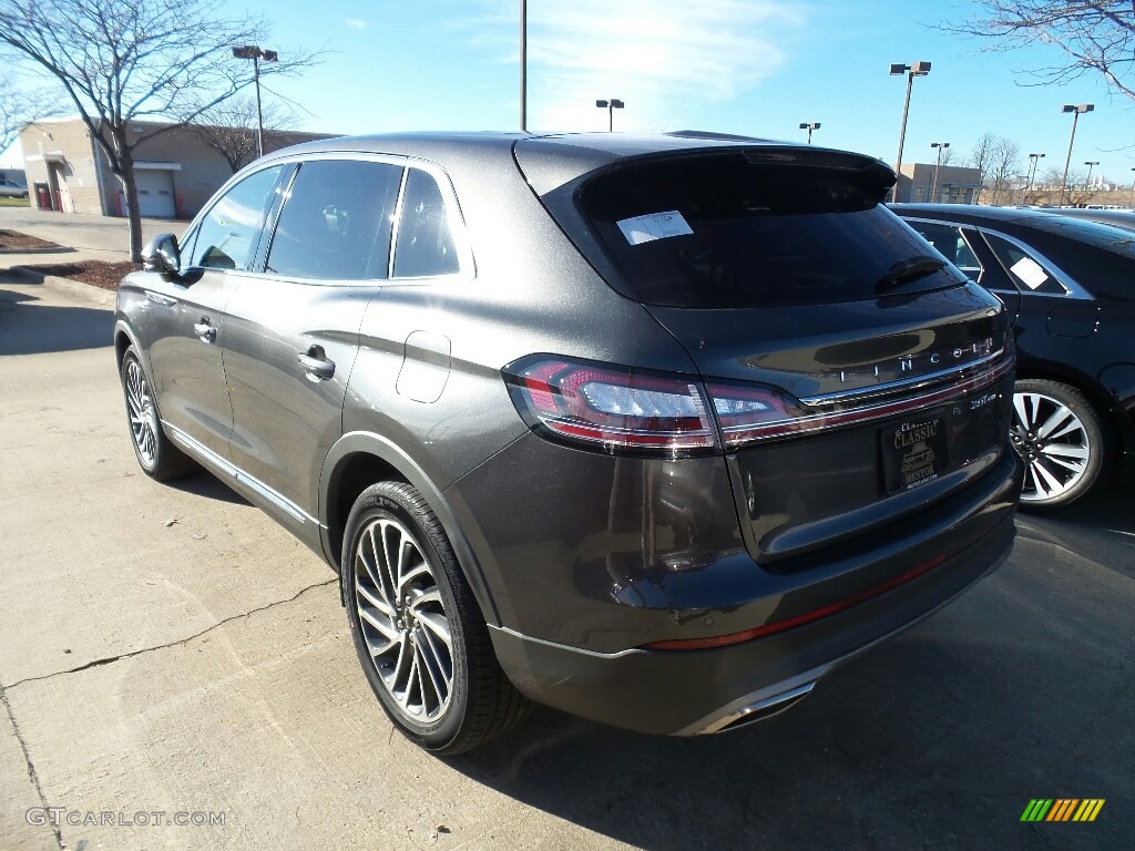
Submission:
<svg viewBox="0 0 1135 851">
<path fill-rule="evenodd" d="M 537 709 L 451 765 L 657 851 L 1127 846 L 1135 585 L 1104 574 L 1088 607 L 1048 554 L 1031 542 L 770 721 L 666 739 Z M 1108 818 L 1022 824 L 1034 798 L 1103 798 Z"/>
</svg>

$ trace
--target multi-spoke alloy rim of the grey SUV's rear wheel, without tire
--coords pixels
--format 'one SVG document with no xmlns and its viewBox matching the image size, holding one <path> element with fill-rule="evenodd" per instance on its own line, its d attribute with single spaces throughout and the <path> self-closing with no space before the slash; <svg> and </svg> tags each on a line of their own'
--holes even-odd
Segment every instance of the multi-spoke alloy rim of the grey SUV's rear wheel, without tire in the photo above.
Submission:
<svg viewBox="0 0 1135 851">
<path fill-rule="evenodd" d="M 422 547 L 396 520 L 372 521 L 354 553 L 355 605 L 371 663 L 398 709 L 431 724 L 453 696 L 449 620 Z"/>
</svg>

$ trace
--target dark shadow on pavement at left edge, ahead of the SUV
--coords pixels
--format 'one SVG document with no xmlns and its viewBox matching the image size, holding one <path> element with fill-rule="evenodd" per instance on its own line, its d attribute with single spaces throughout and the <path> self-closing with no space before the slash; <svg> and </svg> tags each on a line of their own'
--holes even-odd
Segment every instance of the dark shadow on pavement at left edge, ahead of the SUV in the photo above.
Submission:
<svg viewBox="0 0 1135 851">
<path fill-rule="evenodd" d="M 0 288 L 0 355 L 74 352 L 110 346 L 114 311 L 40 304 L 35 296 Z"/>
</svg>

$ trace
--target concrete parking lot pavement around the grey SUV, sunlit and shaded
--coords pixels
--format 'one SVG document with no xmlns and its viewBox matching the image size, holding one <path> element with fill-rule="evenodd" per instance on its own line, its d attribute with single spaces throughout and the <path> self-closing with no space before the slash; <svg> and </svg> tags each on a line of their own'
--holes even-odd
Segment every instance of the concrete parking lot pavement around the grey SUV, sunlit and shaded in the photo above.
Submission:
<svg viewBox="0 0 1135 851">
<path fill-rule="evenodd" d="M 5 849 L 1130 846 L 1129 490 L 1023 517 L 1001 571 L 763 725 L 540 710 L 443 761 L 381 714 L 328 567 L 211 477 L 138 471 L 110 329 L 0 273 Z M 1022 824 L 1034 798 L 1107 802 Z"/>
</svg>

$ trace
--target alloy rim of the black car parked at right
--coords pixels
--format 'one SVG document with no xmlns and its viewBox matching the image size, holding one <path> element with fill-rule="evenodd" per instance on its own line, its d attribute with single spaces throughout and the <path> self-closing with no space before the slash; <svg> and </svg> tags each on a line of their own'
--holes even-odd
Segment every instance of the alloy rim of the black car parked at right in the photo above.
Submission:
<svg viewBox="0 0 1135 851">
<path fill-rule="evenodd" d="M 1087 429 L 1058 398 L 1042 393 L 1016 393 L 1009 432 L 1026 464 L 1024 502 L 1056 499 L 1076 487 L 1088 469 L 1094 447 Z"/>
</svg>

